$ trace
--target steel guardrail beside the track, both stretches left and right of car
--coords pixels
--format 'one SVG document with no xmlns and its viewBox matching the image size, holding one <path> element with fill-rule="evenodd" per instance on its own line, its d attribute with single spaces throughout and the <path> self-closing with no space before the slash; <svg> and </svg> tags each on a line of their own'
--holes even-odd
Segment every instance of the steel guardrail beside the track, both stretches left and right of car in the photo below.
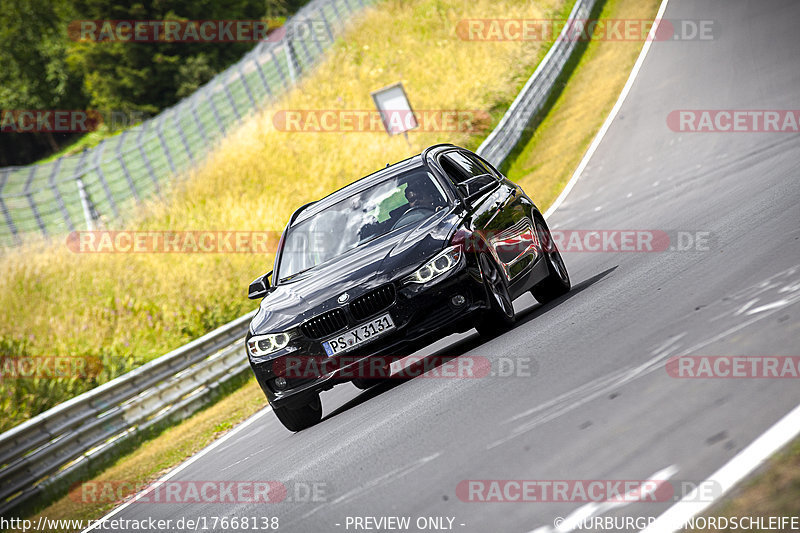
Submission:
<svg viewBox="0 0 800 533">
<path fill-rule="evenodd" d="M 577 0 L 570 20 L 587 18 L 595 0 Z M 547 100 L 575 40 L 567 24 L 536 71 L 481 144 L 495 165 L 508 156 Z M 574 34 L 573 34 L 574 35 Z M 0 515 L 114 450 L 128 437 L 169 417 L 196 411 L 213 388 L 248 368 L 242 340 L 255 311 L 124 376 L 64 402 L 0 434 Z"/>
</svg>

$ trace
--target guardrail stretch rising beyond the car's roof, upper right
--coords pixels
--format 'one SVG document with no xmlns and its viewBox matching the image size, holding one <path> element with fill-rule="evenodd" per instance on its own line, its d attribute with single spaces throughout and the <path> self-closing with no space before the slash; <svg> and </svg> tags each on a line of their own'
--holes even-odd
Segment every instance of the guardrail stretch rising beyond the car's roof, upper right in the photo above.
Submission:
<svg viewBox="0 0 800 533">
<path fill-rule="evenodd" d="M 547 55 L 536 67 L 533 75 L 514 99 L 497 127 L 478 147 L 478 155 L 495 166 L 500 166 L 522 138 L 533 116 L 542 109 L 556 79 L 569 60 L 580 38 L 584 22 L 594 8 L 596 0 L 577 0 L 569 20 L 550 47 Z"/>
</svg>

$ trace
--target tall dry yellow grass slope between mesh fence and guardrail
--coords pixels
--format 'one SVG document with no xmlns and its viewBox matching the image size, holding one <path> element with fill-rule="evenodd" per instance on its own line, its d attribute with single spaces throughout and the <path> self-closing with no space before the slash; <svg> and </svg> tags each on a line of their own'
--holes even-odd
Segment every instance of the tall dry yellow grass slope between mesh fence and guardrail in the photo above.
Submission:
<svg viewBox="0 0 800 533">
<path fill-rule="evenodd" d="M 417 109 L 507 106 L 546 43 L 468 42 L 467 18 L 563 17 L 565 0 L 388 0 L 368 9 L 301 86 L 226 137 L 202 167 L 125 229 L 280 230 L 299 205 L 442 141 L 486 132 L 285 133 L 277 109 L 372 109 L 402 81 Z M 63 243 L 0 258 L 0 355 L 100 358 L 103 382 L 252 309 L 247 284 L 271 268 L 253 254 L 75 254 Z M 3 382 L 0 429 L 95 385 Z"/>
</svg>

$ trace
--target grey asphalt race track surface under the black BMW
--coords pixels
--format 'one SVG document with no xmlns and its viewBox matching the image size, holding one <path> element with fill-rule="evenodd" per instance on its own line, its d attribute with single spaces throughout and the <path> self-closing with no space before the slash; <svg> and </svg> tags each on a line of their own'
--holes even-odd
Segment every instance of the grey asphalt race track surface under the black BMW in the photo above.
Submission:
<svg viewBox="0 0 800 533">
<path fill-rule="evenodd" d="M 465 502 L 459 482 L 641 480 L 668 467 L 673 482 L 700 481 L 800 404 L 796 380 L 664 368 L 678 355 L 800 355 L 800 135 L 679 133 L 666 121 L 680 109 L 796 109 L 800 3 L 672 0 L 665 16 L 713 20 L 715 38 L 652 46 L 550 224 L 663 230 L 673 246 L 677 232 L 708 232 L 707 246 L 567 253 L 571 294 L 520 299 L 519 325 L 494 340 L 472 332 L 427 350 L 529 361 L 530 375 L 340 387 L 323 395 L 318 426 L 291 434 L 266 413 L 173 478 L 280 481 L 293 500 L 317 483 L 324 501 L 136 503 L 115 518 L 277 516 L 281 531 L 322 532 L 353 531 L 347 517 L 453 517 L 456 531 L 524 533 L 583 502 Z"/>
</svg>

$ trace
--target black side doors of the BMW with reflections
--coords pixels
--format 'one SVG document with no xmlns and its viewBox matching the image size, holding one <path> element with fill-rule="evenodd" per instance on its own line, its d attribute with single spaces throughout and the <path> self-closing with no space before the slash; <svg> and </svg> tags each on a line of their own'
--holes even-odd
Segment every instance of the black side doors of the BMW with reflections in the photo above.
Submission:
<svg viewBox="0 0 800 533">
<path fill-rule="evenodd" d="M 532 203 L 522 189 L 505 179 L 488 163 L 466 150 L 442 154 L 439 164 L 474 209 L 472 230 L 482 235 L 486 248 L 509 281 L 514 283 L 530 270 L 537 243 L 531 220 Z"/>
</svg>

